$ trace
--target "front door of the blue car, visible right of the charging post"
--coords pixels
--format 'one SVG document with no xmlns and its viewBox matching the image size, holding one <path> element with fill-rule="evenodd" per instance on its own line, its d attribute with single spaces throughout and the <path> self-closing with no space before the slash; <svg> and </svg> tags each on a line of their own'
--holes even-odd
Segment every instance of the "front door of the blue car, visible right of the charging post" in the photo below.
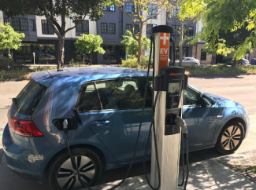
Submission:
<svg viewBox="0 0 256 190">
<path fill-rule="evenodd" d="M 202 108 L 201 95 L 191 88 L 184 92 L 183 118 L 187 123 L 190 151 L 212 143 L 216 129 L 216 110 L 212 106 Z"/>
</svg>

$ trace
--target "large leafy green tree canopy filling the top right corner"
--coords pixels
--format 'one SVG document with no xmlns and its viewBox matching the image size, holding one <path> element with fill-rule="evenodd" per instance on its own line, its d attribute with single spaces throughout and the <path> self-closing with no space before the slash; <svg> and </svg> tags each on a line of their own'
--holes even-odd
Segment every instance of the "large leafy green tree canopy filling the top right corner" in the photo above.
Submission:
<svg viewBox="0 0 256 190">
<path fill-rule="evenodd" d="M 256 1 L 207 0 L 207 4 L 203 30 L 195 42 L 198 38 L 205 39 L 206 48 L 219 55 L 235 52 L 235 66 L 236 60 L 256 47 Z"/>
</svg>

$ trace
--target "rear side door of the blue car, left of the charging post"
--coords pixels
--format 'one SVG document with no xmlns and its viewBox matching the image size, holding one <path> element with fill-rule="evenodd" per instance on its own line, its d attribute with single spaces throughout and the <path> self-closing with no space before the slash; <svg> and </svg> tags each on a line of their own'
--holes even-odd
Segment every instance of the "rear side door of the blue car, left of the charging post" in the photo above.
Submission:
<svg viewBox="0 0 256 190">
<path fill-rule="evenodd" d="M 82 89 L 85 93 L 87 86 L 93 89 L 88 90 L 88 93 L 93 93 L 92 98 L 81 94 L 85 96 L 79 103 L 83 125 L 91 128 L 117 161 L 129 163 L 139 131 L 145 79 L 113 79 L 89 83 Z M 143 159 L 152 119 L 150 98 L 147 98 L 146 103 L 136 160 Z M 97 109 L 93 105 L 87 107 L 87 104 L 97 104 Z"/>
</svg>

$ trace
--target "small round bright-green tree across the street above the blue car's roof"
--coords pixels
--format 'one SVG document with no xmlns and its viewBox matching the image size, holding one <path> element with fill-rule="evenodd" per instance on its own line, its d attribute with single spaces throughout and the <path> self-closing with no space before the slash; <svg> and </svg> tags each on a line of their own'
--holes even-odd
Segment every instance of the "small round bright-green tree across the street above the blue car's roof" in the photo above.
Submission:
<svg viewBox="0 0 256 190">
<path fill-rule="evenodd" d="M 98 52 L 104 54 L 105 50 L 101 47 L 103 43 L 102 37 L 99 35 L 82 35 L 82 37 L 77 38 L 75 42 L 76 52 L 83 52 L 90 54 L 90 62 L 92 64 L 92 52 Z"/>
</svg>

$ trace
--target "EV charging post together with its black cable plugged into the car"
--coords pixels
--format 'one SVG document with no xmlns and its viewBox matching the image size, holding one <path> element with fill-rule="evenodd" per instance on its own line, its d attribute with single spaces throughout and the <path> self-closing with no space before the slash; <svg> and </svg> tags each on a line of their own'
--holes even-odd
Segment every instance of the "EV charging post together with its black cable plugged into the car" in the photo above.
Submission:
<svg viewBox="0 0 256 190">
<path fill-rule="evenodd" d="M 187 186 L 188 178 L 188 155 L 187 155 L 187 177 L 184 183 L 184 172 L 183 182 L 181 185 L 178 184 L 179 177 L 179 166 L 180 166 L 180 142 L 183 142 L 183 137 L 186 139 L 187 144 L 187 126 L 186 122 L 182 119 L 182 108 L 184 90 L 187 88 L 187 76 L 184 75 L 184 68 L 168 66 L 169 64 L 169 39 L 170 34 L 173 33 L 173 28 L 169 26 L 157 26 L 153 27 L 153 35 L 150 37 L 150 59 L 152 55 L 152 49 L 154 44 L 153 53 L 153 105 L 152 105 L 152 121 L 150 124 L 149 135 L 147 139 L 147 147 L 145 148 L 144 157 L 144 174 L 147 179 L 150 188 L 161 189 L 161 190 L 176 190 L 178 186 L 184 185 L 184 189 Z M 124 179 L 113 188 L 113 190 L 119 187 L 128 177 L 129 171 L 132 168 L 132 164 L 135 160 L 135 153 L 137 151 L 139 143 L 139 134 L 143 122 L 143 115 L 145 109 L 145 100 L 147 97 L 147 86 L 149 82 L 150 73 L 150 61 L 147 70 L 147 82 L 145 86 L 143 111 L 141 116 L 141 122 L 139 124 L 138 136 L 134 148 L 134 153 L 131 158 L 131 163 Z M 74 157 L 71 154 L 68 140 L 68 131 L 77 130 L 78 126 L 81 125 L 81 119 L 76 109 L 73 110 L 72 119 L 54 119 L 54 126 L 58 130 L 64 131 L 65 144 L 68 148 L 69 156 L 72 162 L 72 166 L 76 170 L 78 179 L 84 188 L 91 188 L 85 184 L 80 177 L 80 171 L 76 166 Z M 150 133 L 153 126 L 152 136 L 152 154 L 151 154 L 151 176 L 150 181 L 147 178 L 145 170 L 145 159 L 147 156 L 147 148 L 150 142 Z M 182 134 L 182 135 L 181 135 Z M 181 141 L 180 141 L 181 140 Z M 187 148 L 187 146 L 186 146 Z M 182 155 L 184 152 L 184 146 L 182 143 Z M 188 151 L 187 151 L 188 153 Z M 183 170 L 184 170 L 184 157 Z"/>
</svg>

